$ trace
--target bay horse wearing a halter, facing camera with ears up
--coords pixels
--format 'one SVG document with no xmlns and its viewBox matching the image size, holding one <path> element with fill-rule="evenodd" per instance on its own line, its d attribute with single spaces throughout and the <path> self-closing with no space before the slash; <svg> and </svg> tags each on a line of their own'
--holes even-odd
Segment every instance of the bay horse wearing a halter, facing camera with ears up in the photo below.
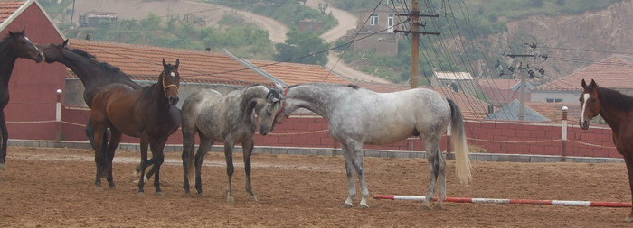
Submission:
<svg viewBox="0 0 633 228">
<path fill-rule="evenodd" d="M 110 84 L 94 96 L 90 111 L 90 127 L 94 130 L 93 143 L 97 178 L 95 185 L 100 186 L 101 177 L 106 176 L 110 187 L 114 187 L 112 178 L 112 160 L 121 139 L 121 134 L 140 138 L 141 178 L 138 181 L 138 192 L 143 193 L 145 171 L 148 165 L 156 170 L 154 187 L 156 194 L 160 189 L 160 166 L 165 160 L 163 149 L 169 135 L 174 133 L 181 123 L 180 111 L 172 108 L 178 103 L 178 87 L 180 74 L 178 66 L 167 64 L 163 59 L 163 71 L 157 82 L 142 89 L 134 89 L 125 84 Z M 106 129 L 111 132 L 110 143 Z M 102 140 L 101 140 L 102 139 Z M 147 145 L 152 150 L 152 159 L 147 160 Z"/>
</svg>

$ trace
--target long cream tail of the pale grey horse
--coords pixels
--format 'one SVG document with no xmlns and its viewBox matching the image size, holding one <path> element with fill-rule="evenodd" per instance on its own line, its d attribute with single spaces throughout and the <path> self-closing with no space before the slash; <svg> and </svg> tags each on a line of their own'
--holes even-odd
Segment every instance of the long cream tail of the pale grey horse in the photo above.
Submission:
<svg viewBox="0 0 633 228">
<path fill-rule="evenodd" d="M 468 144 L 466 143 L 466 133 L 464 132 L 464 116 L 457 104 L 451 99 L 447 99 L 450 105 L 450 141 L 455 150 L 457 173 L 459 182 L 468 185 L 472 178 L 472 167 L 468 158 Z"/>
</svg>

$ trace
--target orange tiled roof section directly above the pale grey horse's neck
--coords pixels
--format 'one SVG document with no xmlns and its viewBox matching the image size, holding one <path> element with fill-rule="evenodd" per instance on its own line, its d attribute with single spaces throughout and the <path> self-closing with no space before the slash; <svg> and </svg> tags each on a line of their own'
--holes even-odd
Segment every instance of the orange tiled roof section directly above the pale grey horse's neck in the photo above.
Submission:
<svg viewBox="0 0 633 228">
<path fill-rule="evenodd" d="M 255 66 L 261 66 L 269 74 L 288 83 L 297 85 L 302 83 L 329 82 L 335 84 L 350 84 L 351 82 L 339 77 L 335 73 L 329 73 L 326 68 L 318 65 L 283 62 L 275 65 L 268 60 L 249 59 Z"/>
</svg>

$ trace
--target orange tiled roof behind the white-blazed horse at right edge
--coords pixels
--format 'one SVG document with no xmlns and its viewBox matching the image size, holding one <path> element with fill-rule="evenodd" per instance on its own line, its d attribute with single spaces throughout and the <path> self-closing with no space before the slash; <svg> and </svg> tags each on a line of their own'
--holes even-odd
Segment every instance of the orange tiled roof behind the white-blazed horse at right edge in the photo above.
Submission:
<svg viewBox="0 0 633 228">
<path fill-rule="evenodd" d="M 613 55 L 565 77 L 532 90 L 580 91 L 581 80 L 595 79 L 600 87 L 632 88 L 633 57 Z"/>
</svg>

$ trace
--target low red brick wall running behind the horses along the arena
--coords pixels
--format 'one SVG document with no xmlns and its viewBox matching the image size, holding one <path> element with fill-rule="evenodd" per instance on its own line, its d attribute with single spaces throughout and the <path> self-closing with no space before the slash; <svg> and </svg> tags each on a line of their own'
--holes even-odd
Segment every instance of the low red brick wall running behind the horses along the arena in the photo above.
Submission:
<svg viewBox="0 0 633 228">
<path fill-rule="evenodd" d="M 90 111 L 75 107 L 62 108 L 61 124 L 64 140 L 87 141 L 84 127 L 70 123 L 85 124 Z M 327 132 L 325 119 L 316 115 L 292 115 L 267 136 L 257 135 L 256 146 L 340 148 L 340 145 Z M 466 134 L 468 144 L 485 149 L 490 153 L 507 154 L 562 154 L 562 127 L 560 123 L 517 123 L 492 121 L 467 121 Z M 584 131 L 577 125 L 568 128 L 567 156 L 621 158 L 613 147 L 609 127 L 591 127 Z M 137 139 L 124 136 L 123 142 L 138 142 Z M 595 144 L 602 147 L 583 145 L 576 141 Z M 181 144 L 182 133 L 170 136 L 169 144 Z M 449 149 L 448 136 L 440 142 L 442 150 Z M 410 138 L 391 145 L 367 145 L 365 149 L 375 150 L 425 150 L 420 139 Z M 483 152 L 483 151 L 482 151 Z"/>
</svg>

